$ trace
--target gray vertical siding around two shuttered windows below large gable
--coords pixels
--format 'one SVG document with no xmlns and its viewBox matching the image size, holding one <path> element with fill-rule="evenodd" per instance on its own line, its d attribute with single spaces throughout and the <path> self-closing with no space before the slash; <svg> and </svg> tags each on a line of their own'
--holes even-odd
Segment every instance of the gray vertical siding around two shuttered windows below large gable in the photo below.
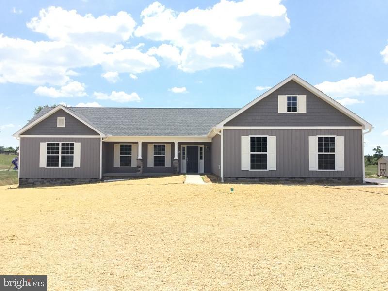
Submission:
<svg viewBox="0 0 388 291">
<path fill-rule="evenodd" d="M 224 129 L 224 177 L 362 177 L 361 129 L 339 130 L 226 130 Z M 242 171 L 241 136 L 276 136 L 276 170 Z M 308 136 L 344 136 L 345 171 L 309 171 Z"/>
</svg>

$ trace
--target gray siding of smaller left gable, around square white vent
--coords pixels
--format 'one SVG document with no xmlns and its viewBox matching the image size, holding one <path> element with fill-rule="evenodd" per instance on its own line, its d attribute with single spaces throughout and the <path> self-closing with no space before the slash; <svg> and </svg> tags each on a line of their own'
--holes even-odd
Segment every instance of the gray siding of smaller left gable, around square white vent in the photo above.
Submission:
<svg viewBox="0 0 388 291">
<path fill-rule="evenodd" d="M 65 117 L 65 127 L 57 127 L 57 117 Z M 42 120 L 23 135 L 99 135 L 96 131 L 83 124 L 69 113 L 58 110 Z"/>
</svg>

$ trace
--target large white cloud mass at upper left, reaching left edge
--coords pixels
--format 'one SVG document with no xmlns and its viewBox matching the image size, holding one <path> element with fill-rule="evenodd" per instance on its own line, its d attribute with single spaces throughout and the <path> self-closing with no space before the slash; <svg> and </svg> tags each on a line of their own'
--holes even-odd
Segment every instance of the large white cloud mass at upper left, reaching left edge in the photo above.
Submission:
<svg viewBox="0 0 388 291">
<path fill-rule="evenodd" d="M 137 74 L 159 67 L 141 46 L 127 49 L 120 44 L 129 39 L 135 26 L 125 12 L 95 18 L 49 7 L 27 26 L 51 41 L 0 34 L 0 83 L 65 85 L 77 75 L 77 68 L 101 65 L 105 72 Z"/>
</svg>

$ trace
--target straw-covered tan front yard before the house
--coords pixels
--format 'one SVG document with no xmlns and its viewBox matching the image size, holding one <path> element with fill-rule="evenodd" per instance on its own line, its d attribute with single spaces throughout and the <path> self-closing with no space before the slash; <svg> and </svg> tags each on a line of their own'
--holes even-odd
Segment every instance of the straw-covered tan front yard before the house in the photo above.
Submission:
<svg viewBox="0 0 388 291">
<path fill-rule="evenodd" d="M 388 289 L 388 188 L 182 181 L 1 187 L 0 274 L 58 291 Z"/>
</svg>

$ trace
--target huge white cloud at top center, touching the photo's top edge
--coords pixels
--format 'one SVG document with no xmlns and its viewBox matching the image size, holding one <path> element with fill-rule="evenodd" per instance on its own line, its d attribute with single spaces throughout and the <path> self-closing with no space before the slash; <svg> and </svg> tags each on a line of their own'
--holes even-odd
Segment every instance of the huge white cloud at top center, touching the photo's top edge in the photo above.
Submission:
<svg viewBox="0 0 388 291">
<path fill-rule="evenodd" d="M 178 68 L 187 72 L 241 65 L 243 49 L 260 49 L 290 27 L 280 0 L 221 0 L 210 8 L 180 13 L 154 2 L 142 11 L 141 18 L 143 24 L 135 35 L 170 42 L 163 55 L 177 62 L 181 50 Z"/>
</svg>

